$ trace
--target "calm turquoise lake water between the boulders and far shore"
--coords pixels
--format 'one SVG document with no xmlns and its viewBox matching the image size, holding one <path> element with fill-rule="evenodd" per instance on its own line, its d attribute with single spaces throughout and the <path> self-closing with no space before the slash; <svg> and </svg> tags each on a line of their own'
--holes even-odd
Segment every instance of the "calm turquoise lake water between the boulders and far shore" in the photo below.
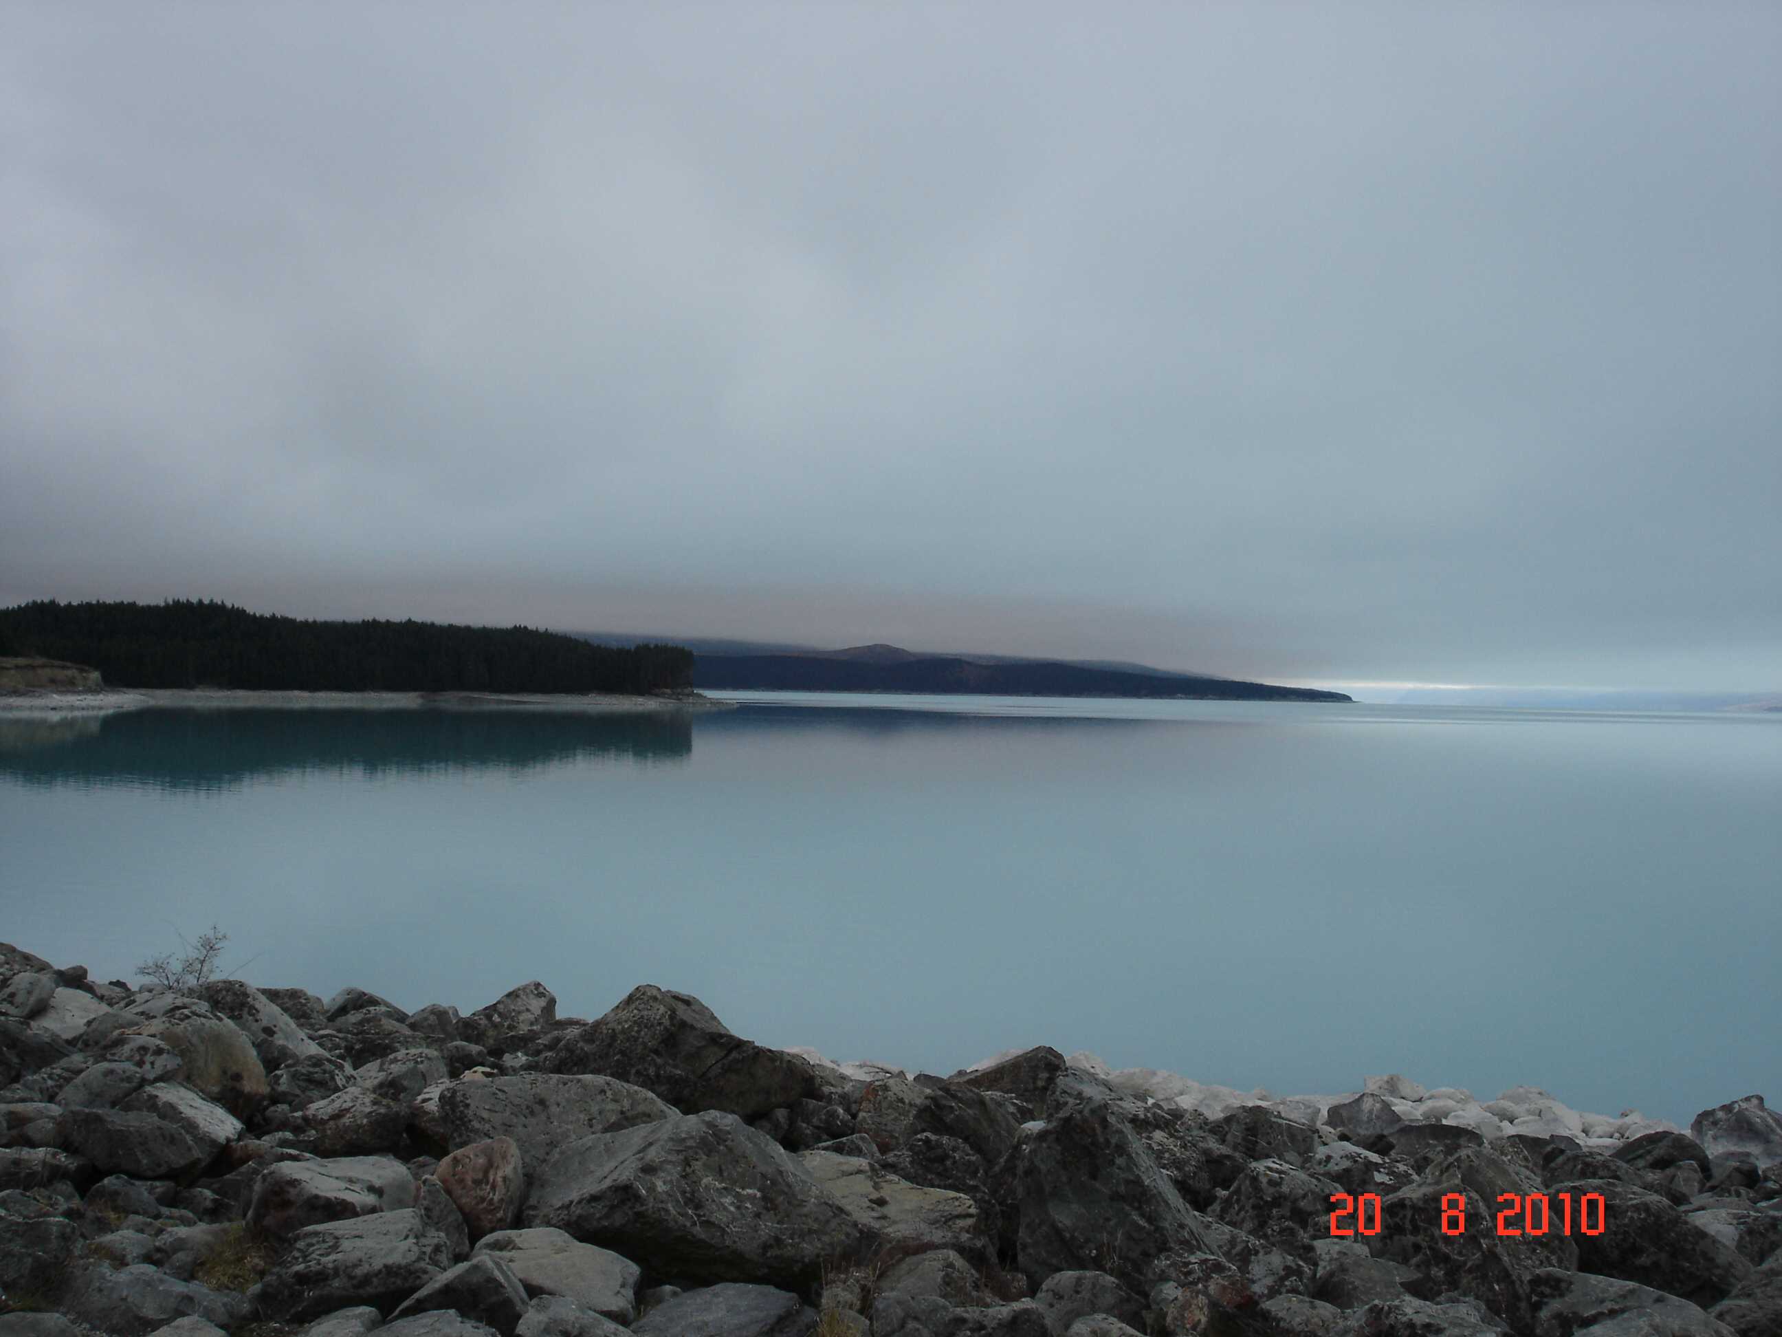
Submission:
<svg viewBox="0 0 1782 1337">
<path fill-rule="evenodd" d="M 0 722 L 0 938 L 934 1071 L 1782 1100 L 1782 717 L 727 693 Z"/>
</svg>

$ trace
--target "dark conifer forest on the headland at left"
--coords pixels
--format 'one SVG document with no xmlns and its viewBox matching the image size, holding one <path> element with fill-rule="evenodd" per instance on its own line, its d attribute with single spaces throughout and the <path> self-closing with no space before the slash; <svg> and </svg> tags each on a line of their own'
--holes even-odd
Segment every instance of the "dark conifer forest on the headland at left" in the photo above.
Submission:
<svg viewBox="0 0 1782 1337">
<path fill-rule="evenodd" d="M 531 627 L 310 622 L 207 599 L 162 604 L 53 599 L 0 610 L 0 644 L 98 668 L 107 686 L 296 692 L 684 690 L 679 645 L 590 645 Z"/>
</svg>

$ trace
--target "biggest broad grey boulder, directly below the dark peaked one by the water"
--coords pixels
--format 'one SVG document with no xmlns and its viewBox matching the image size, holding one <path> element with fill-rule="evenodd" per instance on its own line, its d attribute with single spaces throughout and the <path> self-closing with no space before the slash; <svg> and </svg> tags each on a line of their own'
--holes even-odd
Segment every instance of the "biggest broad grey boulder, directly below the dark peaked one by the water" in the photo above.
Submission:
<svg viewBox="0 0 1782 1337">
<path fill-rule="evenodd" d="M 777 1143 L 716 1111 L 570 1143 L 538 1171 L 526 1223 L 663 1278 L 793 1287 L 868 1239 Z"/>
</svg>

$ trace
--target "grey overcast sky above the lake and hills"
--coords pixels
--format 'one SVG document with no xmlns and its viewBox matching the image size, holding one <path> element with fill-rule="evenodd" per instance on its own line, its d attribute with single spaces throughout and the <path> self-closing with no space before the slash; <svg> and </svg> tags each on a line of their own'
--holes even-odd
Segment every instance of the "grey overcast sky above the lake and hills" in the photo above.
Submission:
<svg viewBox="0 0 1782 1337">
<path fill-rule="evenodd" d="M 1782 7 L 0 4 L 0 603 L 1782 685 Z"/>
</svg>

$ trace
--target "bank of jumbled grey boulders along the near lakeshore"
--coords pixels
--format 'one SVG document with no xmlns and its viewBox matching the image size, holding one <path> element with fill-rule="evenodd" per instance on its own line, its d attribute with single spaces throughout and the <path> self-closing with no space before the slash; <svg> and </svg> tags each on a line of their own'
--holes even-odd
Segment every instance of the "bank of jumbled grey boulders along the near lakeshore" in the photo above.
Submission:
<svg viewBox="0 0 1782 1337">
<path fill-rule="evenodd" d="M 5 945 L 0 1087 L 0 1337 L 1782 1333 L 1761 1096 L 1684 1134 L 1050 1048 L 911 1077 L 654 986 L 406 1013 Z"/>
</svg>

